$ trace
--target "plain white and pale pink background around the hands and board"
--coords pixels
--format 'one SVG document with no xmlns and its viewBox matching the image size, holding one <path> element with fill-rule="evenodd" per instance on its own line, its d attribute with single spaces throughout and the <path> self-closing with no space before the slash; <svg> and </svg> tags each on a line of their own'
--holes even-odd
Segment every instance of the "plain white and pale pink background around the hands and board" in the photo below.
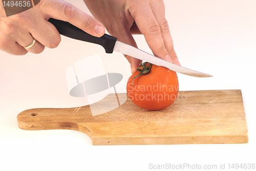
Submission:
<svg viewBox="0 0 256 171">
<path fill-rule="evenodd" d="M 87 10 L 82 1 L 72 3 Z M 0 170 L 149 170 L 149 163 L 256 163 L 256 2 L 165 4 L 181 64 L 214 75 L 179 75 L 180 90 L 242 89 L 249 143 L 92 146 L 90 138 L 77 131 L 20 130 L 16 116 L 23 110 L 84 105 L 84 99 L 69 96 L 65 80 L 65 69 L 79 59 L 101 53 L 109 70 L 123 74 L 124 80 L 130 76 L 122 55 L 105 55 L 97 45 L 62 37 L 58 48 L 40 55 L 16 57 L 0 51 Z M 136 40 L 150 52 L 142 36 Z"/>
</svg>

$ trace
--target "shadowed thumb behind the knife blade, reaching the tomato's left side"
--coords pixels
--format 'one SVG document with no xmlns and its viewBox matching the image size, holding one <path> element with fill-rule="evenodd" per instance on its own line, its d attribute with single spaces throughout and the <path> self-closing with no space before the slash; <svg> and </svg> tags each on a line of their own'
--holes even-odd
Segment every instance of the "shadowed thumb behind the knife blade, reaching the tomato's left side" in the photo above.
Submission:
<svg viewBox="0 0 256 171">
<path fill-rule="evenodd" d="M 138 47 L 132 34 L 130 33 L 129 28 L 125 28 L 125 25 L 123 25 L 122 23 L 118 26 L 119 26 L 118 29 L 114 29 L 114 30 L 111 29 L 110 34 L 117 37 L 118 40 L 121 42 L 132 45 L 134 47 Z M 131 71 L 133 74 L 139 67 L 141 60 L 139 60 L 137 58 L 133 58 L 128 55 L 124 55 L 124 57 L 129 61 L 130 65 L 131 65 Z"/>
</svg>

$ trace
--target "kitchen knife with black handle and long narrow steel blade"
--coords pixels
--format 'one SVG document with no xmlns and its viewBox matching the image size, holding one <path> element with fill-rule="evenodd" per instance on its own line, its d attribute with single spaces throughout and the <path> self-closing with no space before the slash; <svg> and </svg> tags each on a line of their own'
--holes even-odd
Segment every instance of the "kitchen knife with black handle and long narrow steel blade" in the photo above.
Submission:
<svg viewBox="0 0 256 171">
<path fill-rule="evenodd" d="M 188 76 L 212 77 L 211 75 L 205 74 L 203 72 L 188 69 L 162 60 L 158 57 L 141 51 L 136 47 L 117 41 L 116 37 L 110 36 L 108 34 L 104 34 L 102 37 L 95 37 L 71 25 L 71 23 L 66 21 L 50 18 L 49 22 L 51 22 L 56 27 L 59 34 L 73 39 L 99 44 L 104 47 L 106 53 L 112 54 L 113 51 L 120 52 L 122 54 L 132 56 L 145 62 L 150 62 L 155 65 L 164 66 L 166 68 L 169 68 L 170 70 L 174 70 L 176 72 Z"/>
</svg>

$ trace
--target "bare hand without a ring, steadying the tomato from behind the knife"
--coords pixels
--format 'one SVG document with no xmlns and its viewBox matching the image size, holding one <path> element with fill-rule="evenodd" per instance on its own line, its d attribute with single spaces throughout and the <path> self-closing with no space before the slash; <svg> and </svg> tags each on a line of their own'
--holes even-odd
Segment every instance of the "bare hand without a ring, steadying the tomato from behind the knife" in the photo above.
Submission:
<svg viewBox="0 0 256 171">
<path fill-rule="evenodd" d="M 155 56 L 180 65 L 174 51 L 162 0 L 83 0 L 93 16 L 119 41 L 137 47 L 133 34 L 143 34 Z M 140 60 L 125 55 L 134 73 Z"/>
</svg>

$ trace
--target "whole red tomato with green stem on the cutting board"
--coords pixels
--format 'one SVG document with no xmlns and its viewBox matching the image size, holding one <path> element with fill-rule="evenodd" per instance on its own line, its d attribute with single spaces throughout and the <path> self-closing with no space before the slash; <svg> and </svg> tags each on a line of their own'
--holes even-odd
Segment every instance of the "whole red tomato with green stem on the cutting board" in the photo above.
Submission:
<svg viewBox="0 0 256 171">
<path fill-rule="evenodd" d="M 172 105 L 179 91 L 175 71 L 145 62 L 129 78 L 127 95 L 137 106 L 161 110 Z"/>
</svg>

